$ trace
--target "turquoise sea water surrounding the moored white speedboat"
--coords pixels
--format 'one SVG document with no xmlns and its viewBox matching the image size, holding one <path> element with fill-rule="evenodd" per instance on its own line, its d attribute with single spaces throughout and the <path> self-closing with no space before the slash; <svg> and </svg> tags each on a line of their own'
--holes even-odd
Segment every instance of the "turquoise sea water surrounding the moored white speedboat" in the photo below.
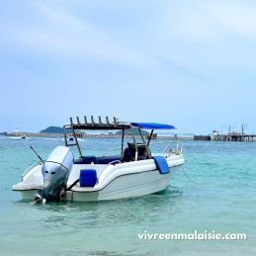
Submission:
<svg viewBox="0 0 256 256">
<path fill-rule="evenodd" d="M 101 203 L 21 202 L 24 170 L 61 138 L 0 137 L 0 255 L 256 255 L 256 143 L 184 141 L 184 170 L 167 190 Z M 118 139 L 86 139 L 103 153 Z M 88 152 L 87 151 L 87 152 Z M 137 233 L 215 231 L 247 240 L 139 240 Z"/>
</svg>

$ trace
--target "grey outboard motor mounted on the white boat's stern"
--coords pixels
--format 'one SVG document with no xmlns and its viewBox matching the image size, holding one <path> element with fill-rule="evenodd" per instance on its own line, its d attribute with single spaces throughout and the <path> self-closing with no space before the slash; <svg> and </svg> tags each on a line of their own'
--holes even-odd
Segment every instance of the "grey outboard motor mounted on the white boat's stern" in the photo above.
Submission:
<svg viewBox="0 0 256 256">
<path fill-rule="evenodd" d="M 59 201 L 62 189 L 66 187 L 73 164 L 73 154 L 66 146 L 57 146 L 43 163 L 43 188 L 35 195 L 35 202 Z"/>
</svg>

